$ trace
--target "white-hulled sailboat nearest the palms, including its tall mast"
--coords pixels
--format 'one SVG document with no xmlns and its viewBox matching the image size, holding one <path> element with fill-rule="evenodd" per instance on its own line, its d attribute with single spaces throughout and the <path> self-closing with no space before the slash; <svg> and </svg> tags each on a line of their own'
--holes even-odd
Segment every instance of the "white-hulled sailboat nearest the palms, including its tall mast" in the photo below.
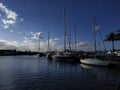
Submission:
<svg viewBox="0 0 120 90">
<path fill-rule="evenodd" d="M 88 59 L 81 59 L 80 62 L 82 64 L 87 64 L 87 65 L 96 65 L 96 66 L 108 66 L 110 64 L 110 61 L 106 60 L 100 60 L 96 58 L 96 24 L 95 24 L 95 16 L 93 17 L 94 21 L 94 52 L 95 52 L 95 57 L 94 58 L 88 58 Z"/>
</svg>

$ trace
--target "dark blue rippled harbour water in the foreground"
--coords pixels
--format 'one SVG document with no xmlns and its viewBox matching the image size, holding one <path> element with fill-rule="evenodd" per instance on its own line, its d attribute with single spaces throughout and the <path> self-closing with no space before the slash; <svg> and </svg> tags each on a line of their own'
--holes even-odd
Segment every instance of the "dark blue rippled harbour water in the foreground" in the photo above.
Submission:
<svg viewBox="0 0 120 90">
<path fill-rule="evenodd" d="M 0 90 L 120 90 L 120 70 L 37 56 L 1 56 Z"/>
</svg>

